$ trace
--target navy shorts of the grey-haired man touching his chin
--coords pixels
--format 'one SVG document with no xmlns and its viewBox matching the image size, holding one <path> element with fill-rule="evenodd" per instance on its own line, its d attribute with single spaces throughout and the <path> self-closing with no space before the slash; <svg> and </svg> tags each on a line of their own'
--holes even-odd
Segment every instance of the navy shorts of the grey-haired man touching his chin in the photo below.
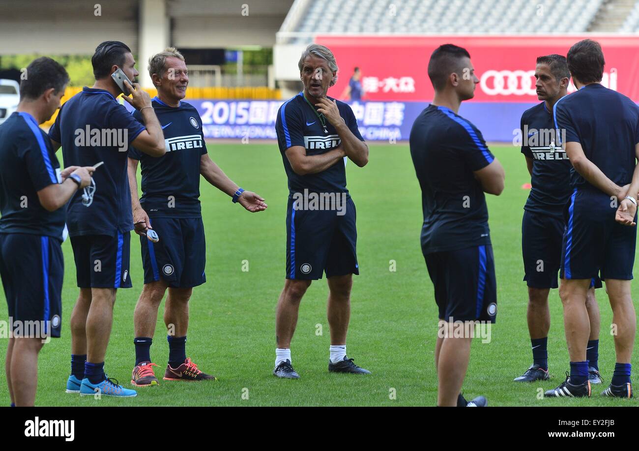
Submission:
<svg viewBox="0 0 639 451">
<path fill-rule="evenodd" d="M 295 209 L 294 202 L 289 198 L 286 210 L 286 278 L 359 274 L 353 200 L 349 197 L 341 210 Z"/>
</svg>

